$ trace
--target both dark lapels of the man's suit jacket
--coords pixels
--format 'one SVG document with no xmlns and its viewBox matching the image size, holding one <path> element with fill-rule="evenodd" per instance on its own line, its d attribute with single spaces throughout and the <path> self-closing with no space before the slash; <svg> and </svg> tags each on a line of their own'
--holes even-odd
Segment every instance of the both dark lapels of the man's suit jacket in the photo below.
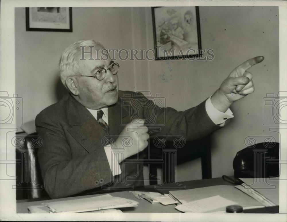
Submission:
<svg viewBox="0 0 287 222">
<path fill-rule="evenodd" d="M 119 98 L 121 91 L 119 91 Z M 67 101 L 66 115 L 69 121 L 69 133 L 88 152 L 93 152 L 96 147 L 103 147 L 107 134 L 81 103 L 70 95 Z M 109 137 L 116 140 L 123 128 L 131 121 L 129 106 L 121 106 L 120 99 L 108 107 Z"/>
</svg>

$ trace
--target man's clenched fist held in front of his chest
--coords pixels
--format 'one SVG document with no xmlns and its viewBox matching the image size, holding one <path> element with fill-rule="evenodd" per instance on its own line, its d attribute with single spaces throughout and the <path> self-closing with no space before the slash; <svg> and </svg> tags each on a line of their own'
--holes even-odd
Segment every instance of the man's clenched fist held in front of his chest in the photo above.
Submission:
<svg viewBox="0 0 287 222">
<path fill-rule="evenodd" d="M 112 148 L 124 148 L 124 157 L 120 156 L 118 162 L 131 157 L 148 146 L 148 128 L 144 126 L 144 119 L 135 119 L 136 123 L 142 122 L 142 125 L 135 125 L 133 122 L 129 123 L 119 138 L 115 141 Z"/>
</svg>

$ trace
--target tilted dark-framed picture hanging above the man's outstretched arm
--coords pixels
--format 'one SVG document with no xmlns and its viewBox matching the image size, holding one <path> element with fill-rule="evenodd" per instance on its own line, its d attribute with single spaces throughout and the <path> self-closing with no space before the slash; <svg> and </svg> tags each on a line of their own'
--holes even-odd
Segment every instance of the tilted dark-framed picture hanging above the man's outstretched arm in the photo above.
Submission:
<svg viewBox="0 0 287 222">
<path fill-rule="evenodd" d="M 198 7 L 152 7 L 156 60 L 201 55 Z"/>
</svg>

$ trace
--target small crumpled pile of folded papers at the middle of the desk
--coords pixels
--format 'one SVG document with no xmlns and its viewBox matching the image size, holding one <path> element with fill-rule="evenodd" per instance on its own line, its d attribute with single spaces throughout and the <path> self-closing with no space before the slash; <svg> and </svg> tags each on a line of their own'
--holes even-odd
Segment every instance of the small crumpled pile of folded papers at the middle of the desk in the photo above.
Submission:
<svg viewBox="0 0 287 222">
<path fill-rule="evenodd" d="M 130 191 L 139 200 L 145 199 L 148 202 L 155 204 L 161 203 L 163 205 L 170 205 L 179 203 L 177 200 L 171 198 L 169 194 L 160 194 L 157 192 L 141 192 L 141 191 Z"/>
</svg>

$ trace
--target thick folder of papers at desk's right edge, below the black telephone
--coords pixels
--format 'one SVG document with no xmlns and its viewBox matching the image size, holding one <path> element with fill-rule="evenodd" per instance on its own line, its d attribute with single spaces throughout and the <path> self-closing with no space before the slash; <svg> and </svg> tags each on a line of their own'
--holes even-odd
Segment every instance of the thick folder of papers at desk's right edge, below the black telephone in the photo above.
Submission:
<svg viewBox="0 0 287 222">
<path fill-rule="evenodd" d="M 243 183 L 234 186 L 251 196 L 264 206 L 279 205 L 279 177 L 276 178 L 240 178 Z"/>
</svg>

